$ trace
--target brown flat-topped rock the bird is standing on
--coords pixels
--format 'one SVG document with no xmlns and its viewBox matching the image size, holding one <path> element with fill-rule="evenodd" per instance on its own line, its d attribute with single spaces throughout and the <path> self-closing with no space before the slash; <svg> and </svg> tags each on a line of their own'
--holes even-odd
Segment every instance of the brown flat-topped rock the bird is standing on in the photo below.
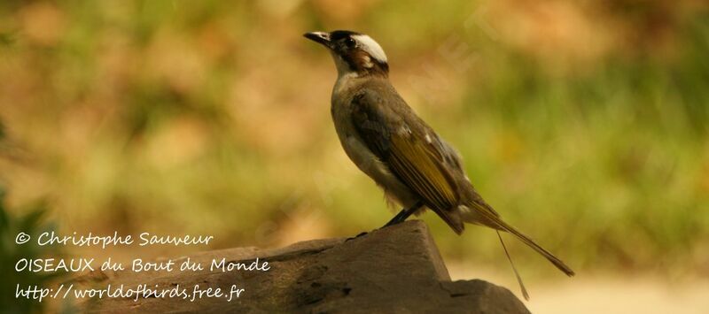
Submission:
<svg viewBox="0 0 709 314">
<path fill-rule="evenodd" d="M 250 264 L 267 261 L 268 272 L 116 272 L 77 280 L 83 287 L 245 288 L 238 298 L 103 298 L 83 303 L 90 312 L 199 313 L 529 313 L 504 287 L 483 280 L 451 281 L 425 224 L 408 221 L 351 241 L 303 241 L 281 249 L 238 248 L 199 253 Z M 187 258 L 187 257 L 183 257 Z M 178 264 L 183 259 L 177 261 Z"/>
</svg>

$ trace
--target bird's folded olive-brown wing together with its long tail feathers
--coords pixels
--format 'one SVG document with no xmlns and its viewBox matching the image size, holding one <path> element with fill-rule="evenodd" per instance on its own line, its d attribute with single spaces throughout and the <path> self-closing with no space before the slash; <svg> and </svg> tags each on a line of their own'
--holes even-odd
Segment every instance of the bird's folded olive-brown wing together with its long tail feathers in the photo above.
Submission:
<svg viewBox="0 0 709 314">
<path fill-rule="evenodd" d="M 456 150 L 419 119 L 393 88 L 380 88 L 382 87 L 362 88 L 354 95 L 350 103 L 354 128 L 371 152 L 386 163 L 389 170 L 407 187 L 416 192 L 426 207 L 436 212 L 448 226 L 460 234 L 464 226 L 457 207 L 458 204 L 464 204 L 478 214 L 480 223 L 514 234 L 559 270 L 569 276 L 574 275 L 573 270 L 559 258 L 505 223 L 472 188 L 470 182 L 456 181 L 456 178 L 464 178 L 461 177 L 464 176 L 464 171 Z M 393 97 L 384 99 L 380 95 Z M 463 186 L 456 182 L 461 182 Z M 507 249 L 504 249 L 507 253 Z M 526 295 L 521 280 L 519 284 Z"/>
</svg>

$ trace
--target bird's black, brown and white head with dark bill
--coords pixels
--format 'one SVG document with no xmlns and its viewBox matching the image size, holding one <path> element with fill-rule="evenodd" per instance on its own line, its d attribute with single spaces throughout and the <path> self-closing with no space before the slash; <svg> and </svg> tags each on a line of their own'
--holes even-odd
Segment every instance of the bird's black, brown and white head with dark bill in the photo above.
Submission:
<svg viewBox="0 0 709 314">
<path fill-rule="evenodd" d="M 355 73 L 358 76 L 386 77 L 389 73 L 384 50 L 366 34 L 338 30 L 306 33 L 304 36 L 330 50 L 340 76 Z"/>
</svg>

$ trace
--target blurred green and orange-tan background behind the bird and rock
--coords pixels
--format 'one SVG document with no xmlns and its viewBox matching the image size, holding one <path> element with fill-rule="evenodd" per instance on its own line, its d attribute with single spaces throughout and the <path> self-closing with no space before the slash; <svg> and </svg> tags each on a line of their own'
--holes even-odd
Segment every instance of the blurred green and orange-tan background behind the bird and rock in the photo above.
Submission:
<svg viewBox="0 0 709 314">
<path fill-rule="evenodd" d="M 8 215 L 43 200 L 61 233 L 212 234 L 214 249 L 384 224 L 393 213 L 334 133 L 331 57 L 301 37 L 334 29 L 381 43 L 393 84 L 488 203 L 579 273 L 508 237 L 530 309 L 608 295 L 616 310 L 709 308 L 699 0 L 3 0 Z M 518 291 L 494 233 L 422 218 L 455 278 Z"/>
</svg>

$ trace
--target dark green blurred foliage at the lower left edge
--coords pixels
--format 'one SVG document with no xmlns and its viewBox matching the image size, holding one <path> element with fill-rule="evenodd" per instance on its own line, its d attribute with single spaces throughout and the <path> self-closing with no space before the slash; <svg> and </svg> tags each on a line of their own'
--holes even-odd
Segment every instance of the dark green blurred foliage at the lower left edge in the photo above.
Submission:
<svg viewBox="0 0 709 314">
<path fill-rule="evenodd" d="M 5 203 L 5 191 L 0 187 L 0 269 L 3 270 L 3 280 L 0 283 L 0 312 L 2 313 L 41 313 L 49 303 L 43 300 L 39 303 L 25 297 L 15 297 L 17 286 L 51 287 L 52 280 L 62 276 L 61 272 L 15 272 L 15 264 L 22 258 L 57 258 L 61 251 L 57 246 L 39 246 L 36 241 L 26 244 L 15 244 L 15 236 L 19 232 L 30 234 L 33 238 L 43 232 L 54 230 L 50 223 L 43 222 L 47 212 L 45 203 L 38 202 L 25 206 L 20 211 L 22 215 L 15 216 L 9 212 Z"/>
</svg>

